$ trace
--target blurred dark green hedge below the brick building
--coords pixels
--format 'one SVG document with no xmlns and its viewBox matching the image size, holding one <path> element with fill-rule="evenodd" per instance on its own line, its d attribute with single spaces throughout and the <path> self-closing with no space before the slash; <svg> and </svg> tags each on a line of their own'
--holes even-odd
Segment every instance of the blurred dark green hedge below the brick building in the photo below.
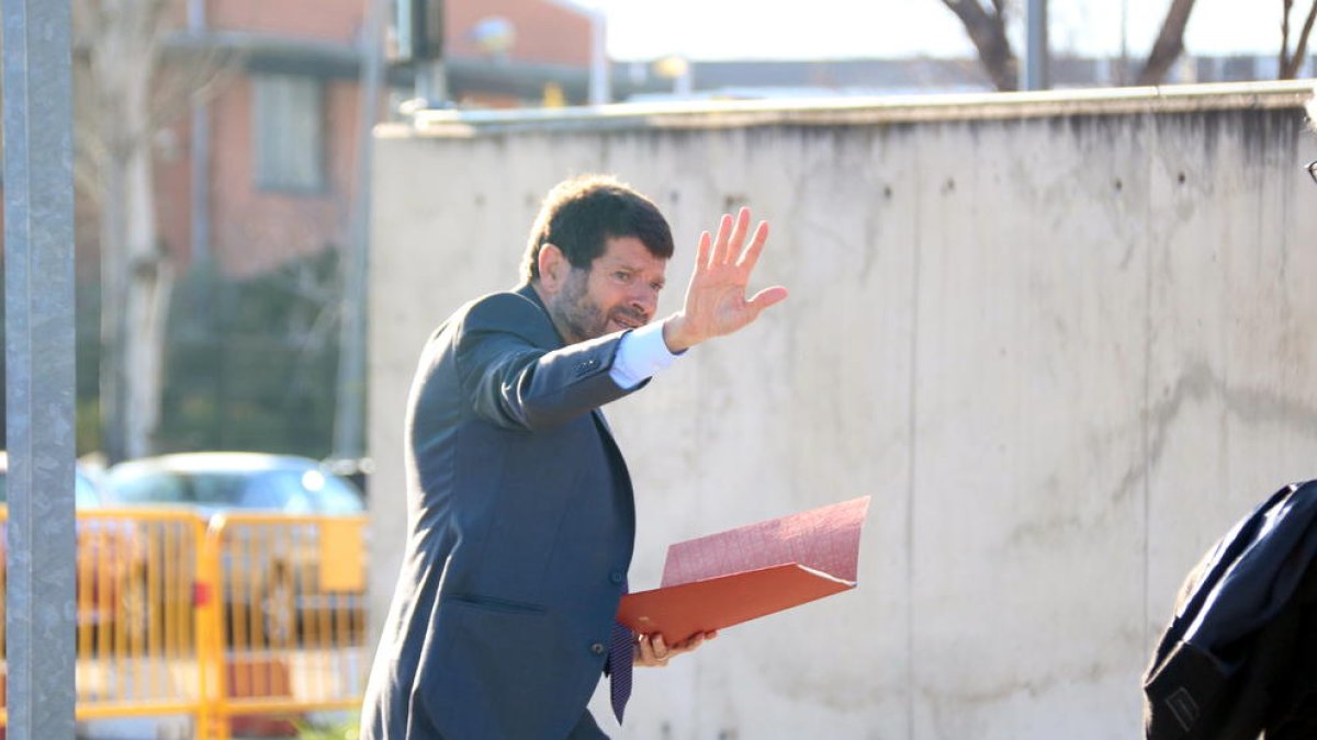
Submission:
<svg viewBox="0 0 1317 740">
<path fill-rule="evenodd" d="M 331 453 L 337 257 L 337 249 L 324 249 L 245 278 L 200 267 L 179 280 L 166 340 L 159 453 Z M 79 456 L 100 449 L 99 294 L 95 280 L 78 287 Z"/>
</svg>

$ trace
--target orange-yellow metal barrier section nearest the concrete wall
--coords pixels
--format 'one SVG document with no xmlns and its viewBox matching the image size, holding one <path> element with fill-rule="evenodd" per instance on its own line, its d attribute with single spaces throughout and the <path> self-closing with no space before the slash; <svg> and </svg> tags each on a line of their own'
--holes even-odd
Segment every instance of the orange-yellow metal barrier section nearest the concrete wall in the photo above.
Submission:
<svg viewBox="0 0 1317 740">
<path fill-rule="evenodd" d="M 365 517 L 228 515 L 211 521 L 219 585 L 207 712 L 219 737 L 234 715 L 350 710 L 365 690 Z"/>
</svg>

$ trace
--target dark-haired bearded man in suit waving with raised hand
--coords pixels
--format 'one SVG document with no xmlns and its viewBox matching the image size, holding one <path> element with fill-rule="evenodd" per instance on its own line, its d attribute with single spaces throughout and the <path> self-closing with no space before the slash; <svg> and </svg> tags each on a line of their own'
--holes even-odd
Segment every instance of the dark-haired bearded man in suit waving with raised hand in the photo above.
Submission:
<svg viewBox="0 0 1317 740">
<path fill-rule="evenodd" d="M 707 637 L 665 645 L 614 620 L 635 508 L 599 407 L 786 298 L 745 298 L 766 237 L 747 209 L 723 216 L 684 308 L 651 324 L 666 221 L 618 180 L 568 180 L 531 229 L 524 283 L 431 336 L 407 410 L 410 536 L 362 740 L 603 737 L 586 710 L 602 672 L 620 720 L 632 662 Z"/>
</svg>

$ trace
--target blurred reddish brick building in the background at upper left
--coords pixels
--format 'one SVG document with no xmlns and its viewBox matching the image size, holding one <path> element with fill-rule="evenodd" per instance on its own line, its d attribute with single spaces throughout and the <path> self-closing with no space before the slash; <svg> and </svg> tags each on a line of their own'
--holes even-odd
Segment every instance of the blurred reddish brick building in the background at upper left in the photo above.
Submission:
<svg viewBox="0 0 1317 740">
<path fill-rule="evenodd" d="M 583 101 L 590 16 L 554 0 L 444 3 L 456 104 Z M 178 274 L 208 261 L 252 275 L 345 242 L 361 141 L 363 0 L 179 0 L 169 54 L 230 68 L 157 136 L 157 217 Z M 215 51 L 221 54 L 215 55 Z M 381 103 L 410 96 L 387 66 Z"/>
</svg>

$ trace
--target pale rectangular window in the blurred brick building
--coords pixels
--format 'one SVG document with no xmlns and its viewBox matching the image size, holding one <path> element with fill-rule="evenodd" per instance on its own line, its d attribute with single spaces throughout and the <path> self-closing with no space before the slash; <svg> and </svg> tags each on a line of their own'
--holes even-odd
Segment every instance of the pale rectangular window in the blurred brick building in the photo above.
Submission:
<svg viewBox="0 0 1317 740">
<path fill-rule="evenodd" d="M 262 190 L 324 190 L 324 84 L 302 75 L 255 75 L 255 183 Z"/>
</svg>

